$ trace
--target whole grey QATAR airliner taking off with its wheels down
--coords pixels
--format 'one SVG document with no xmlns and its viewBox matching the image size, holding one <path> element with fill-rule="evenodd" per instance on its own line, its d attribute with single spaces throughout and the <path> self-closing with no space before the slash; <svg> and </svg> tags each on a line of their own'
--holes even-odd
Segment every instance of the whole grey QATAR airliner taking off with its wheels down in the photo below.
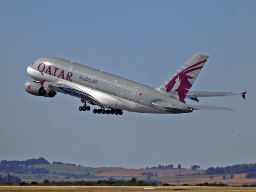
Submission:
<svg viewBox="0 0 256 192">
<path fill-rule="evenodd" d="M 28 66 L 33 78 L 25 90 L 35 96 L 54 97 L 57 92 L 81 99 L 80 111 L 97 105 L 96 114 L 122 115 L 123 110 L 140 113 L 180 114 L 193 110 L 232 110 L 225 107 L 187 104 L 186 98 L 199 102 L 199 97 L 241 95 L 246 92 L 189 91 L 208 56 L 195 54 L 159 88 L 152 88 L 119 76 L 77 64 L 68 60 L 44 57 Z"/>
</svg>

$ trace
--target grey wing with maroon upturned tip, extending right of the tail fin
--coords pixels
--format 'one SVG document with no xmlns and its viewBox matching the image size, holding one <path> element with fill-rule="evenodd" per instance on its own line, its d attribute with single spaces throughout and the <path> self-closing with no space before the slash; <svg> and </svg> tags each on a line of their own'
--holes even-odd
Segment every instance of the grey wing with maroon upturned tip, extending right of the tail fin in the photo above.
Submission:
<svg viewBox="0 0 256 192">
<path fill-rule="evenodd" d="M 189 91 L 186 94 L 185 98 L 190 98 L 194 101 L 199 102 L 198 97 L 219 97 L 219 96 L 232 96 L 232 95 L 241 95 L 245 98 L 246 92 L 243 93 L 232 93 L 232 92 L 207 92 L 207 91 Z"/>
</svg>

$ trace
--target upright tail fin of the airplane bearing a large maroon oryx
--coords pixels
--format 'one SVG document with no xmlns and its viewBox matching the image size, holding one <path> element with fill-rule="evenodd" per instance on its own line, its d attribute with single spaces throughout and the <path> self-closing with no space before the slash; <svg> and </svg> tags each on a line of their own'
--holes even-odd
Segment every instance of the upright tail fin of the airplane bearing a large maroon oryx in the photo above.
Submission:
<svg viewBox="0 0 256 192">
<path fill-rule="evenodd" d="M 157 90 L 183 101 L 207 59 L 206 55 L 195 54 Z"/>
</svg>

